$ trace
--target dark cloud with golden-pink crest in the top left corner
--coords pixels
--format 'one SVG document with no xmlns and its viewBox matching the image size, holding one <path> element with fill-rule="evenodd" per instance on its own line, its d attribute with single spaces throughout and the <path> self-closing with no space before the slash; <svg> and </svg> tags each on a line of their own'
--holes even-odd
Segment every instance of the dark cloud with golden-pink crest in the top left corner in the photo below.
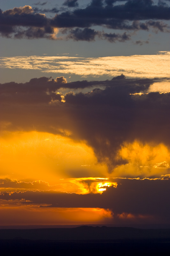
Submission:
<svg viewBox="0 0 170 256">
<path fill-rule="evenodd" d="M 58 31 L 58 30 L 57 30 Z M 31 6 L 0 10 L 1 36 L 14 38 L 48 38 L 56 39 L 56 29 L 51 27 L 45 14 L 34 13 Z"/>
</svg>

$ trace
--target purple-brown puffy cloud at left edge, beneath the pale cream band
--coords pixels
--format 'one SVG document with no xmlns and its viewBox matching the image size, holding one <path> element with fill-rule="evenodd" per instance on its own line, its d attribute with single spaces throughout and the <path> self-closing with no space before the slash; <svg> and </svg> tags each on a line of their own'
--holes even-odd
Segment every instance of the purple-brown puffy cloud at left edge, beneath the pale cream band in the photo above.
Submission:
<svg viewBox="0 0 170 256">
<path fill-rule="evenodd" d="M 51 79 L 51 77 L 33 78 L 25 84 L 15 82 L 0 84 L 0 98 L 2 102 L 5 100 L 18 104 L 61 101 L 62 97 L 56 91 L 66 83 L 67 80 L 61 76 L 56 79 Z"/>
</svg>

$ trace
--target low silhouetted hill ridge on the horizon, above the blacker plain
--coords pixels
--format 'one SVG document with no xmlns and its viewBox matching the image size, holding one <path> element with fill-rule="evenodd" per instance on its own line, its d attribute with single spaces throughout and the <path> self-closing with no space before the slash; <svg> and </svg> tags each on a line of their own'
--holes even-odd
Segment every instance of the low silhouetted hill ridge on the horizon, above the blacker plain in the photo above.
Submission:
<svg viewBox="0 0 170 256">
<path fill-rule="evenodd" d="M 1 229 L 0 239 L 115 240 L 170 238 L 170 229 L 81 226 L 77 228 Z"/>
</svg>

